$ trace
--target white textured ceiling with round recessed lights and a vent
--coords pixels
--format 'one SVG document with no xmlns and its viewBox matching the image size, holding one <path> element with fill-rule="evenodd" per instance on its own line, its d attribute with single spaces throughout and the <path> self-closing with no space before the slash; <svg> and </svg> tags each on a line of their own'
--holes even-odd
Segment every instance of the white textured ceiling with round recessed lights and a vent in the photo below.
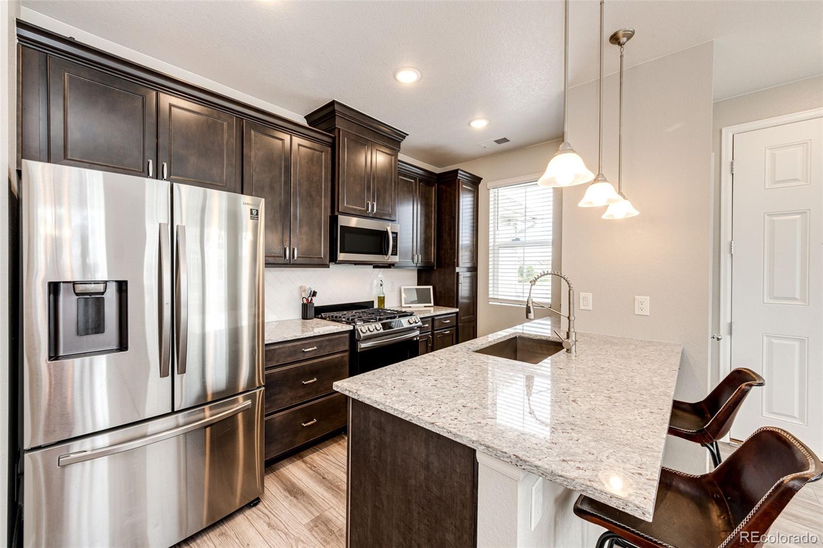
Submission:
<svg viewBox="0 0 823 548">
<path fill-rule="evenodd" d="M 556 138 L 562 2 L 54 2 L 35 12 L 307 114 L 337 99 L 444 166 Z M 597 2 L 571 2 L 570 82 L 597 77 Z M 632 66 L 714 39 L 715 100 L 823 73 L 823 2 L 606 2 Z M 607 44 L 606 70 L 617 69 Z M 413 66 L 421 81 L 394 81 Z M 469 128 L 469 119 L 491 123 Z M 484 150 L 498 137 L 511 142 Z"/>
</svg>

